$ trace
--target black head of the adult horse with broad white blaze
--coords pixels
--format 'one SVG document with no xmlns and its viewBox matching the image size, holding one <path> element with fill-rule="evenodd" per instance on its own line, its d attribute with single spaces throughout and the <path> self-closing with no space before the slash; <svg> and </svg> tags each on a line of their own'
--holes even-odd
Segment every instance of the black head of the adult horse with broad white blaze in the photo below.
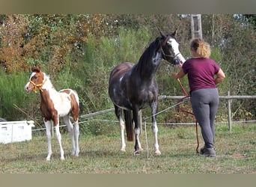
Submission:
<svg viewBox="0 0 256 187">
<path fill-rule="evenodd" d="M 162 58 L 174 65 L 183 64 L 185 62 L 185 58 L 183 58 L 179 50 L 179 43 L 175 38 L 176 33 L 177 29 L 172 34 L 167 35 L 160 31 Z"/>
</svg>

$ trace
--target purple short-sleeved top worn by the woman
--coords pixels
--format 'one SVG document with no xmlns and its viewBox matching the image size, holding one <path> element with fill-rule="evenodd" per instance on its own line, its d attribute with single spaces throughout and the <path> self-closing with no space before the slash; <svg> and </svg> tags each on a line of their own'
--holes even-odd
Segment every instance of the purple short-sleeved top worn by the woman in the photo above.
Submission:
<svg viewBox="0 0 256 187">
<path fill-rule="evenodd" d="M 211 58 L 190 58 L 182 66 L 188 73 L 190 93 L 201 88 L 216 88 L 214 75 L 219 72 L 219 65 Z"/>
</svg>

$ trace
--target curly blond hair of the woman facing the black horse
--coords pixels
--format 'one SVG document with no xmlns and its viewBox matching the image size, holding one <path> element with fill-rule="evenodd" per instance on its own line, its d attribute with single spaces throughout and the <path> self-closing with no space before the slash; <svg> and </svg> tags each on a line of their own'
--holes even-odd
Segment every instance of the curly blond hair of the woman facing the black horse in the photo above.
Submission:
<svg viewBox="0 0 256 187">
<path fill-rule="evenodd" d="M 190 47 L 195 49 L 195 52 L 198 56 L 202 58 L 210 57 L 210 45 L 207 42 L 204 42 L 201 38 L 194 38 L 190 41 Z"/>
</svg>

